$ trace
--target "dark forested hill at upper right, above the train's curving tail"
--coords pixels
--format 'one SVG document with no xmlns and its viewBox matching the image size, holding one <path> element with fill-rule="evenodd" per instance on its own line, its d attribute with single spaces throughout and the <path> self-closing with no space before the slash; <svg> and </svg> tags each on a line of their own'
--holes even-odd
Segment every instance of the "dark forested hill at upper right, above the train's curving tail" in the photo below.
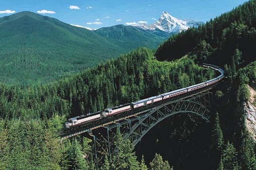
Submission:
<svg viewBox="0 0 256 170">
<path fill-rule="evenodd" d="M 156 52 L 160 60 L 181 58 L 186 54 L 196 61 L 224 65 L 230 63 L 236 48 L 244 63 L 256 59 L 256 1 L 250 0 L 234 10 L 211 19 L 198 28 L 171 36 Z"/>
</svg>

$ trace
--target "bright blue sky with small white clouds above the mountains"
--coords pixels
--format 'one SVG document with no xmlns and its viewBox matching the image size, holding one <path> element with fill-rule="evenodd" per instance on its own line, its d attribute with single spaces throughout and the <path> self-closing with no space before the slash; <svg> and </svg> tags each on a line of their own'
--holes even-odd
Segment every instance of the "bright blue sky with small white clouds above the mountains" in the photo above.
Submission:
<svg viewBox="0 0 256 170">
<path fill-rule="evenodd" d="M 208 21 L 247 0 L 0 0 L 0 17 L 20 11 L 90 28 L 155 22 L 167 11 L 179 19 Z M 44 10 L 44 11 L 42 11 Z"/>
</svg>

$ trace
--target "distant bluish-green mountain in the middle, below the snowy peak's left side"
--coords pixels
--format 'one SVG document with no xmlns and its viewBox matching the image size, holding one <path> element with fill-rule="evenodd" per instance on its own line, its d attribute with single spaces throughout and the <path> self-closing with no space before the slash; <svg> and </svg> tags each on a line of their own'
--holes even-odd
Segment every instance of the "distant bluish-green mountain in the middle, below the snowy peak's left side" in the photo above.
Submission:
<svg viewBox="0 0 256 170">
<path fill-rule="evenodd" d="M 103 27 L 94 32 L 123 48 L 136 48 L 138 46 L 156 48 L 160 42 L 169 37 L 169 35 L 165 37 L 157 36 L 150 31 L 125 25 Z"/>
</svg>

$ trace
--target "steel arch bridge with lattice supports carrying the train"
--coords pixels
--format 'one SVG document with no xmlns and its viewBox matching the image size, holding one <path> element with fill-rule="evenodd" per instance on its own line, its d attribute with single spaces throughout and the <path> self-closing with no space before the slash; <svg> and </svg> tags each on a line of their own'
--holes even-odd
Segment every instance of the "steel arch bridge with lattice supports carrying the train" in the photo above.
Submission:
<svg viewBox="0 0 256 170">
<path fill-rule="evenodd" d="M 194 116 L 209 122 L 212 105 L 212 93 L 207 89 L 87 130 L 86 132 L 93 139 L 96 167 L 98 167 L 98 162 L 102 162 L 105 155 L 108 155 L 110 160 L 112 159 L 114 153 L 112 139 L 114 139 L 117 129 L 123 134 L 124 139 L 130 139 L 133 145 L 137 145 L 154 126 L 173 115 L 186 114 L 193 122 L 195 122 Z"/>
</svg>

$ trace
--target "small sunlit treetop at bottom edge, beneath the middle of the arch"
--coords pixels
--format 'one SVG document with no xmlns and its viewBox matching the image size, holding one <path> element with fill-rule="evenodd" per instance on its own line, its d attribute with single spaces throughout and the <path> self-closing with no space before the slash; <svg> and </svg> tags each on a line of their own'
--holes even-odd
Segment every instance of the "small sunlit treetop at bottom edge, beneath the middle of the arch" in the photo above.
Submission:
<svg viewBox="0 0 256 170">
<path fill-rule="evenodd" d="M 157 154 L 155 155 L 154 159 L 149 163 L 150 170 L 170 170 L 171 167 L 167 160 L 163 160 L 162 156 Z"/>
</svg>

